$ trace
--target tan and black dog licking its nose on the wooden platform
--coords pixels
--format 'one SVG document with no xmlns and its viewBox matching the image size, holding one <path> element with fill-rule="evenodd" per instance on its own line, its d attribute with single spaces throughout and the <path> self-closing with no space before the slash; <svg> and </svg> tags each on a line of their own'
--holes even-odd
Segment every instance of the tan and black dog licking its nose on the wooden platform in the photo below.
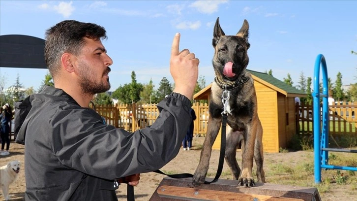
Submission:
<svg viewBox="0 0 357 201">
<path fill-rule="evenodd" d="M 195 186 L 205 182 L 212 145 L 222 123 L 224 90 L 229 91 L 226 102 L 228 118 L 225 160 L 231 169 L 232 177 L 238 180 L 238 185 L 255 186 L 252 175 L 254 158 L 257 165 L 258 182 L 265 182 L 263 128 L 257 113 L 254 81 L 251 74 L 246 70 L 249 62 L 247 50 L 250 46 L 248 30 L 248 21 L 244 20 L 236 35 L 225 35 L 219 25 L 219 17 L 216 20 L 212 39 L 214 47 L 212 64 L 215 78 L 211 87 L 208 107 L 207 134 L 203 143 L 200 162 L 192 179 Z M 225 98 L 227 98 L 227 94 Z M 242 149 L 241 171 L 236 160 L 236 150 L 240 142 Z"/>
</svg>

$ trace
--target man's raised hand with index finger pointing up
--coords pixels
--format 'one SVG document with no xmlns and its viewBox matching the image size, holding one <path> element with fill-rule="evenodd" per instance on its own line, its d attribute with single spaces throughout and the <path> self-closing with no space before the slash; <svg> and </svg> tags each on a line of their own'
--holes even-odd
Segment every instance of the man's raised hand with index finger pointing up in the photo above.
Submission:
<svg viewBox="0 0 357 201">
<path fill-rule="evenodd" d="M 188 49 L 179 52 L 180 34 L 176 33 L 171 48 L 170 73 L 175 81 L 175 93 L 192 100 L 200 61 Z"/>
</svg>

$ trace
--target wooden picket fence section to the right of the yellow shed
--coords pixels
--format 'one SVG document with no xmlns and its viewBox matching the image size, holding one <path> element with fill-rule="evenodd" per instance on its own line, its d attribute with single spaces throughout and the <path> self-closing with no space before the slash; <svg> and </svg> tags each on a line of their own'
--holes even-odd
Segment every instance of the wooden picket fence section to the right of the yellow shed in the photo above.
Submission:
<svg viewBox="0 0 357 201">
<path fill-rule="evenodd" d="M 322 107 L 320 107 L 322 112 Z M 297 106 L 300 115 L 300 134 L 313 134 L 313 105 L 301 104 Z M 333 136 L 352 135 L 357 137 L 357 102 L 336 102 L 328 105 L 329 134 Z M 322 118 L 322 115 L 320 115 Z"/>
</svg>

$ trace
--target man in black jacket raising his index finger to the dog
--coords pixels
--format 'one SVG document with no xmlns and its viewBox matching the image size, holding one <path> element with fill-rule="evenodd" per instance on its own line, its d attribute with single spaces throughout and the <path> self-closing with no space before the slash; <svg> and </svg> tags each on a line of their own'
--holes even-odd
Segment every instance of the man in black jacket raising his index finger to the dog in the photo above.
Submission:
<svg viewBox="0 0 357 201">
<path fill-rule="evenodd" d="M 55 87 L 16 103 L 16 141 L 25 144 L 26 200 L 113 201 L 117 179 L 139 183 L 139 174 L 163 167 L 179 152 L 191 118 L 189 109 L 199 60 L 174 37 L 172 94 L 158 103 L 160 115 L 145 129 L 128 133 L 87 108 L 109 90 L 112 59 L 91 23 L 62 21 L 46 32 L 45 60 Z"/>
</svg>

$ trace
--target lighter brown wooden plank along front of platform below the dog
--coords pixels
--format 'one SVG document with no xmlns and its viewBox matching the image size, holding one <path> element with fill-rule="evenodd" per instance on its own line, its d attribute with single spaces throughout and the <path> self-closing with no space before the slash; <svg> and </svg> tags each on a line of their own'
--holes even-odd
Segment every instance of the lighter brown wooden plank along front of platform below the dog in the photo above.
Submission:
<svg viewBox="0 0 357 201">
<path fill-rule="evenodd" d="M 157 188 L 162 198 L 184 199 L 185 201 L 303 201 L 295 198 L 281 198 L 256 194 L 233 193 L 163 185 Z"/>
</svg>

